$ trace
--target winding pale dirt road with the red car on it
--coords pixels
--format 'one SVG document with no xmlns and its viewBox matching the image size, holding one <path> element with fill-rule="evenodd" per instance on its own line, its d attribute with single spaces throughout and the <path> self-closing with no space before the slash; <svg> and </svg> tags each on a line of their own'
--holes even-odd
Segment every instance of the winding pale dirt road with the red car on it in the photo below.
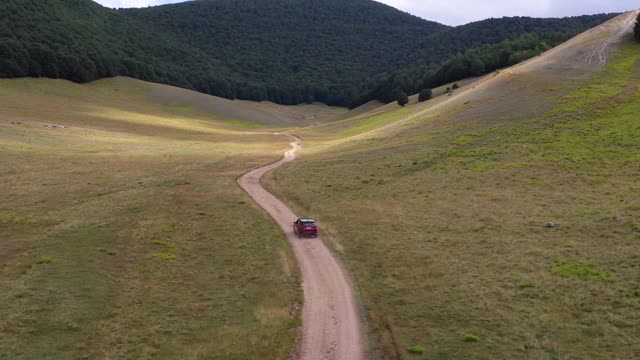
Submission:
<svg viewBox="0 0 640 360">
<path fill-rule="evenodd" d="M 265 173 L 295 159 L 300 139 L 292 139 L 292 148 L 282 160 L 249 172 L 238 183 L 280 225 L 301 268 L 302 337 L 295 358 L 360 360 L 363 352 L 358 306 L 344 269 L 320 238 L 298 239 L 293 234 L 296 215 L 260 183 Z"/>
</svg>

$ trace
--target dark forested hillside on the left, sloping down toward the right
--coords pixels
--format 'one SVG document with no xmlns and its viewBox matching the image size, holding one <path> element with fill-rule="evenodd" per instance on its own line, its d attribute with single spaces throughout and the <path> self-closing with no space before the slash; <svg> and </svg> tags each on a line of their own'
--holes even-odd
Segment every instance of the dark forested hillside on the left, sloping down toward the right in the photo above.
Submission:
<svg viewBox="0 0 640 360">
<path fill-rule="evenodd" d="M 91 0 L 0 2 L 0 77 L 87 82 L 123 75 L 206 91 L 230 74 L 172 34 Z"/>
</svg>

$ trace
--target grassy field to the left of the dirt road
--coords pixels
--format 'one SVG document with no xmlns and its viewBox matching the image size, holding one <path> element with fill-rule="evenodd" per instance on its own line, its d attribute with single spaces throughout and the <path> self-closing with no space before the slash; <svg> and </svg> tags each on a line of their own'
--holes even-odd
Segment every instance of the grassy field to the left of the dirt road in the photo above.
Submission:
<svg viewBox="0 0 640 360">
<path fill-rule="evenodd" d="M 0 359 L 288 358 L 296 266 L 236 184 L 286 139 L 148 86 L 0 81 Z"/>
</svg>

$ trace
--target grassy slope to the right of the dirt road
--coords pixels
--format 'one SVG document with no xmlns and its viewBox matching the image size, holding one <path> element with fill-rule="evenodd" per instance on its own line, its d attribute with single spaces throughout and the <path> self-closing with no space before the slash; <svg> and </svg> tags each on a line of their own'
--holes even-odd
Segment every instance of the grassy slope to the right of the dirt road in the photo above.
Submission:
<svg viewBox="0 0 640 360">
<path fill-rule="evenodd" d="M 301 130 L 267 183 L 318 218 L 386 358 L 638 358 L 638 74 L 626 43 L 587 79 Z"/>
</svg>

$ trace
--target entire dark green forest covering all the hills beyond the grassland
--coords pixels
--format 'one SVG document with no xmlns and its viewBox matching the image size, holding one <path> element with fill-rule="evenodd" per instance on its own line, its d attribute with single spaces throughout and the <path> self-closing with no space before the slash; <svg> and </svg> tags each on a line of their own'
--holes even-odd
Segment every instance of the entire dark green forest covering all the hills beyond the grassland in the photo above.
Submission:
<svg viewBox="0 0 640 360">
<path fill-rule="evenodd" d="M 230 99 L 353 106 L 492 71 L 612 16 L 448 27 L 371 0 L 200 0 L 124 10 L 91 0 L 3 0 L 0 77 L 120 75 Z M 503 57 L 492 62 L 492 52 Z"/>
</svg>

